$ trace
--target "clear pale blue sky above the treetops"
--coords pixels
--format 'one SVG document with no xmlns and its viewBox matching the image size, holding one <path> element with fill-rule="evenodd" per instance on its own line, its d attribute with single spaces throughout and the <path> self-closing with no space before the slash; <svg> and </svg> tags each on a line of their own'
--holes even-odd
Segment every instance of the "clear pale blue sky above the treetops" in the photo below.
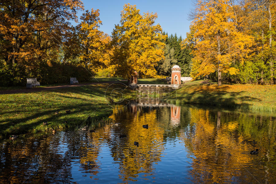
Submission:
<svg viewBox="0 0 276 184">
<path fill-rule="evenodd" d="M 176 33 L 177 36 L 186 38 L 186 32 L 189 32 L 190 21 L 187 20 L 188 13 L 192 8 L 191 1 L 186 0 L 140 0 L 140 1 L 124 1 L 124 0 L 105 0 L 91 1 L 82 0 L 85 10 L 100 10 L 100 19 L 102 26 L 100 29 L 111 35 L 115 24 L 119 24 L 121 20 L 121 10 L 126 3 L 136 5 L 140 9 L 140 13 L 153 12 L 158 14 L 155 23 L 159 23 L 163 31 L 168 34 Z M 80 16 L 83 12 L 79 12 Z M 75 25 L 75 23 L 72 23 Z"/>
</svg>

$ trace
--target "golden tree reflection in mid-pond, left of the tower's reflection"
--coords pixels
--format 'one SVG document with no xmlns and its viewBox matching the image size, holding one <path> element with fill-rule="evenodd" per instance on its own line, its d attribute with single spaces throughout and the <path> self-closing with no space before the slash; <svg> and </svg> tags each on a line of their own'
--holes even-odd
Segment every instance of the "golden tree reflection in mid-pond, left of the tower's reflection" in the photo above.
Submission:
<svg viewBox="0 0 276 184">
<path fill-rule="evenodd" d="M 153 172 L 153 164 L 161 160 L 164 129 L 157 124 L 156 109 L 123 111 L 120 114 L 121 112 L 114 109 L 112 118 L 119 125 L 114 129 L 116 138 L 111 145 L 111 152 L 114 160 L 119 161 L 119 178 L 123 181 L 136 181 L 139 173 Z M 145 124 L 148 124 L 149 129 L 142 128 Z M 119 134 L 127 137 L 119 138 Z M 134 141 L 139 142 L 139 147 L 133 144 Z"/>
</svg>

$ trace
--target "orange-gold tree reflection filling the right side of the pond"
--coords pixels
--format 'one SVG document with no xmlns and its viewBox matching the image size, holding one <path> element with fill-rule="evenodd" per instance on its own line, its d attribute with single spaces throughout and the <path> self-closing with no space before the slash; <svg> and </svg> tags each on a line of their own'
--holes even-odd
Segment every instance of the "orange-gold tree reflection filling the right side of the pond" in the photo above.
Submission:
<svg viewBox="0 0 276 184">
<path fill-rule="evenodd" d="M 193 182 L 254 181 L 247 171 L 261 183 L 275 182 L 275 118 L 193 108 L 189 111 L 190 128 L 181 137 L 192 155 Z M 254 148 L 262 150 L 258 157 L 249 154 Z"/>
</svg>

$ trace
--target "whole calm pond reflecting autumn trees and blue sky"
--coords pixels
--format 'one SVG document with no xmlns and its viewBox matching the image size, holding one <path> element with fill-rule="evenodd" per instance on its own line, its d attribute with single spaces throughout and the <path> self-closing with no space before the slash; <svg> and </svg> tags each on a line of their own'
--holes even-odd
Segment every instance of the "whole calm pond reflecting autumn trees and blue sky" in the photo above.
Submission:
<svg viewBox="0 0 276 184">
<path fill-rule="evenodd" d="M 0 183 L 276 183 L 275 114 L 131 101 L 110 118 L 2 140 Z"/>
</svg>

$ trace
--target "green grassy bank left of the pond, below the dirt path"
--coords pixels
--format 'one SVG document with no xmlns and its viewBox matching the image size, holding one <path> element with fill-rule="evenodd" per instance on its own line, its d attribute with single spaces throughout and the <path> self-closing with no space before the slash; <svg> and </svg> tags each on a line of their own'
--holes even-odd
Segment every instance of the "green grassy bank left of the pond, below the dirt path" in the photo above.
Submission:
<svg viewBox="0 0 276 184">
<path fill-rule="evenodd" d="M 77 128 L 89 123 L 96 125 L 112 113 L 112 107 L 105 98 L 106 89 L 110 94 L 115 88 L 125 88 L 121 85 L 108 86 L 96 84 L 25 94 L 2 94 L 0 137 L 47 132 L 52 128 Z M 123 94 L 124 98 L 131 98 L 134 93 L 126 89 Z M 66 113 L 66 110 L 71 110 L 71 113 Z M 56 114 L 56 111 L 59 113 Z M 87 119 L 89 115 L 91 120 Z M 48 125 L 43 125 L 44 121 L 48 121 Z"/>
</svg>

